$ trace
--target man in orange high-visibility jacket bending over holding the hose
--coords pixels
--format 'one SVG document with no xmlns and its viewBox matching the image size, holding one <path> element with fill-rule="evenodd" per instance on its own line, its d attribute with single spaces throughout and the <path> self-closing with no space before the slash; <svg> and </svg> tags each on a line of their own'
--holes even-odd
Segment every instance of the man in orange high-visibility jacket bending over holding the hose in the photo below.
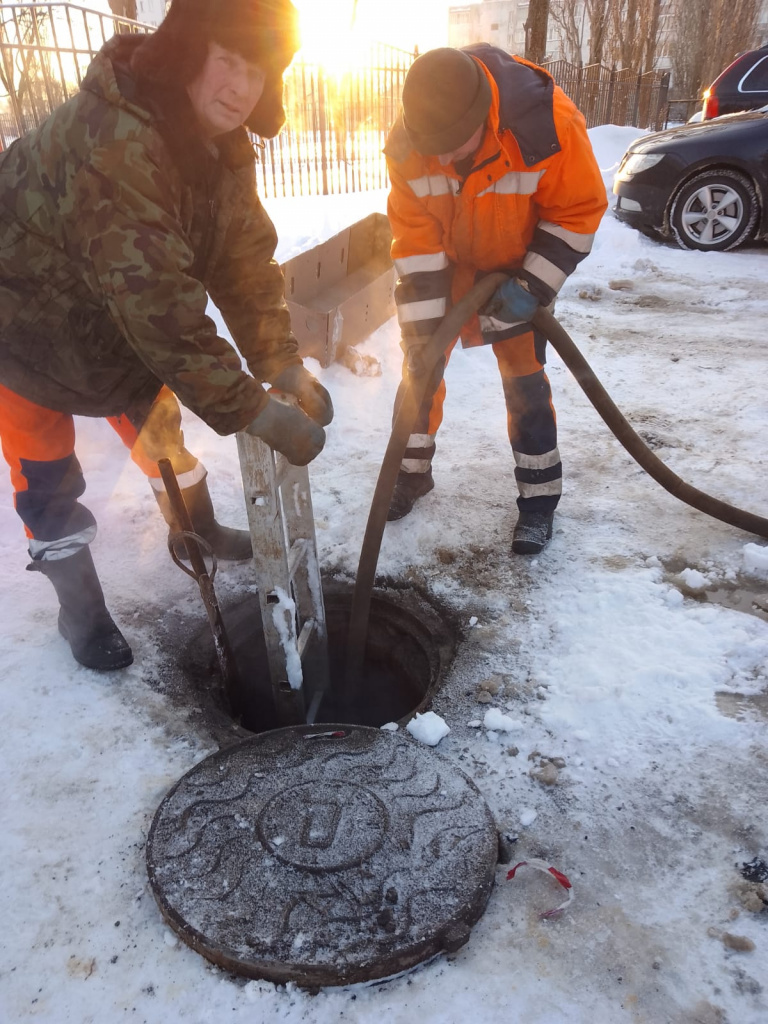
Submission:
<svg viewBox="0 0 768 1024">
<path fill-rule="evenodd" d="M 402 115 L 384 152 L 406 352 L 395 409 L 408 374 L 424 372 L 420 350 L 452 301 L 484 274 L 508 272 L 510 281 L 461 337 L 465 346 L 493 345 L 497 356 L 519 490 L 512 550 L 537 553 L 552 536 L 562 466 L 544 371 L 546 339 L 529 322 L 589 253 L 607 207 L 585 120 L 536 65 L 484 43 L 440 48 L 409 71 Z M 390 521 L 434 486 L 452 348 L 430 379 Z"/>
</svg>

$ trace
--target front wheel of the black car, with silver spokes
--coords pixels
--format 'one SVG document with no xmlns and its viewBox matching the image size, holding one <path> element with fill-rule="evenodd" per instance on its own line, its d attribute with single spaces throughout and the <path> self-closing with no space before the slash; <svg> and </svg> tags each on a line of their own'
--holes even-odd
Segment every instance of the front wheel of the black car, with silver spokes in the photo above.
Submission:
<svg viewBox="0 0 768 1024">
<path fill-rule="evenodd" d="M 670 224 L 683 249 L 724 252 L 746 242 L 758 208 L 749 178 L 737 171 L 703 171 L 675 196 Z"/>
</svg>

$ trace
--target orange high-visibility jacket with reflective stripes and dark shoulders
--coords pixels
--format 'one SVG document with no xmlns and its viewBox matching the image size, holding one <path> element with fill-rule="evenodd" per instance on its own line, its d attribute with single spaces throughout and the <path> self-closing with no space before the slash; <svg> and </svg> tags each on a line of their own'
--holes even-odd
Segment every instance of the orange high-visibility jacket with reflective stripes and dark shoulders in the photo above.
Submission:
<svg viewBox="0 0 768 1024">
<path fill-rule="evenodd" d="M 417 153 L 401 118 L 384 150 L 406 347 L 426 341 L 452 300 L 492 270 L 524 280 L 548 305 L 591 250 L 608 205 L 584 117 L 552 77 L 485 43 L 464 52 L 479 62 L 493 96 L 467 177 Z M 502 326 L 492 324 L 492 332 Z M 462 339 L 496 340 L 480 337 L 477 317 Z"/>
</svg>

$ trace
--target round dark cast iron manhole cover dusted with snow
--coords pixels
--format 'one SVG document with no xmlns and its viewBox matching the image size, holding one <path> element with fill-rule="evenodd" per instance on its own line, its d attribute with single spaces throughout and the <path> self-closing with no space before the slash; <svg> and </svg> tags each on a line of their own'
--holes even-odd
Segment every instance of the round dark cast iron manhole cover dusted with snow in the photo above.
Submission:
<svg viewBox="0 0 768 1024">
<path fill-rule="evenodd" d="M 301 985 L 385 978 L 458 949 L 497 830 L 474 782 L 410 737 L 295 726 L 187 772 L 158 808 L 150 881 L 214 964 Z"/>
</svg>

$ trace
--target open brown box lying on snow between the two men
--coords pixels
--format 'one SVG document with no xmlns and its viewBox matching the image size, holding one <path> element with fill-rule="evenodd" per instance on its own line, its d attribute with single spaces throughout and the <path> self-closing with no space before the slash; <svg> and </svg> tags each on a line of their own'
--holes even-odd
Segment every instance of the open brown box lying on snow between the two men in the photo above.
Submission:
<svg viewBox="0 0 768 1024">
<path fill-rule="evenodd" d="M 392 233 L 381 213 L 283 264 L 299 353 L 324 367 L 394 315 Z"/>
</svg>

